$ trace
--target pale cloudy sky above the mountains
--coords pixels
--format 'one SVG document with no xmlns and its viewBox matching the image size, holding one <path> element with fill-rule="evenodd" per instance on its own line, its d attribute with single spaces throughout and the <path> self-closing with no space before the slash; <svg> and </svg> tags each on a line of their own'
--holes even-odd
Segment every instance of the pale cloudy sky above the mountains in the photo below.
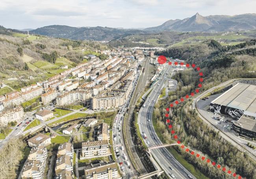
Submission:
<svg viewBox="0 0 256 179">
<path fill-rule="evenodd" d="M 256 13 L 255 0 L 0 0 L 0 25 L 147 28 L 195 15 Z"/>
</svg>

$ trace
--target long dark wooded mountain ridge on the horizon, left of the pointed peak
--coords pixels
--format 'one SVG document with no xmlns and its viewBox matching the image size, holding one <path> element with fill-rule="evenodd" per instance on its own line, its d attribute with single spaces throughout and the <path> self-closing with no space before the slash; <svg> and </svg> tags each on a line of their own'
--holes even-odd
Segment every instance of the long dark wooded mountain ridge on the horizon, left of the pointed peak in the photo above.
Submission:
<svg viewBox="0 0 256 179">
<path fill-rule="evenodd" d="M 61 25 L 45 26 L 30 31 L 39 35 L 67 38 L 74 40 L 110 41 L 115 38 L 125 37 L 131 34 L 141 34 L 145 31 L 135 29 L 117 29 L 108 27 L 70 27 Z"/>
</svg>

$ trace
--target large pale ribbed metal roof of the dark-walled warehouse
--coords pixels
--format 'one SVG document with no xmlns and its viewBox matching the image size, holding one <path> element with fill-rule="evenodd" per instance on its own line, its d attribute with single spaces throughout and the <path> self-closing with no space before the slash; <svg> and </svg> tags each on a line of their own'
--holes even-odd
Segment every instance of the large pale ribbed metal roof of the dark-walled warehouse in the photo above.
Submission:
<svg viewBox="0 0 256 179">
<path fill-rule="evenodd" d="M 237 83 L 211 103 L 256 113 L 256 86 Z"/>
</svg>

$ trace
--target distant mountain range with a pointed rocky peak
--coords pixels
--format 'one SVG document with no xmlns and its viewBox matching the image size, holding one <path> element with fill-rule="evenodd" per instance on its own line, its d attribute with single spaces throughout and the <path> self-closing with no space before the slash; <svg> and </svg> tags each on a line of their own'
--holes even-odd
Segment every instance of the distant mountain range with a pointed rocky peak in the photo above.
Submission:
<svg viewBox="0 0 256 179">
<path fill-rule="evenodd" d="M 160 26 L 146 28 L 145 31 L 234 31 L 256 29 L 256 14 L 234 16 L 212 15 L 203 17 L 196 13 L 183 20 L 168 20 Z"/>
</svg>

